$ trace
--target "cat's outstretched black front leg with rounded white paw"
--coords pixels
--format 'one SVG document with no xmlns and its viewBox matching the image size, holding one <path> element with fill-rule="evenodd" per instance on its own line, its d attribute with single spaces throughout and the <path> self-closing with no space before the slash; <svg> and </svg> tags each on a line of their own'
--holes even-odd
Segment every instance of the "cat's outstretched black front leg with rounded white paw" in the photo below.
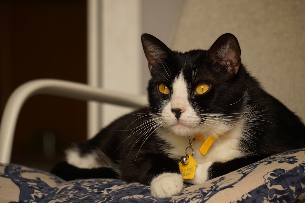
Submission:
<svg viewBox="0 0 305 203">
<path fill-rule="evenodd" d="M 164 155 L 141 154 L 136 160 L 125 161 L 121 171 L 123 180 L 150 184 L 151 194 L 156 198 L 171 197 L 184 187 L 178 161 Z"/>
</svg>

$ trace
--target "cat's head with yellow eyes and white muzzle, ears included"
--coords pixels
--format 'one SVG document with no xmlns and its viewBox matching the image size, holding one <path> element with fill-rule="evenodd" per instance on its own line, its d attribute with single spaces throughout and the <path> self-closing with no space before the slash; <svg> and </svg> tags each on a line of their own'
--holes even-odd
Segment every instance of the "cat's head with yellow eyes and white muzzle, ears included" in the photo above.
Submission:
<svg viewBox="0 0 305 203">
<path fill-rule="evenodd" d="M 152 76 L 149 103 L 160 129 L 178 136 L 228 131 L 247 91 L 236 37 L 227 33 L 208 50 L 185 53 L 150 34 L 142 35 L 142 45 Z"/>
</svg>

